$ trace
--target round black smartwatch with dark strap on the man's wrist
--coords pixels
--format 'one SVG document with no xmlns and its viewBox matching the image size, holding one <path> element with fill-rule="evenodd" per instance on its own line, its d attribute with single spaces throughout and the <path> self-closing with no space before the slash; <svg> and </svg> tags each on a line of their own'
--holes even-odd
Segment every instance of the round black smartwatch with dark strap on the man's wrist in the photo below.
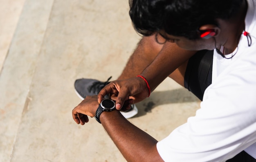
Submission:
<svg viewBox="0 0 256 162">
<path fill-rule="evenodd" d="M 103 111 L 113 111 L 115 110 L 115 102 L 110 100 L 110 99 L 104 99 L 101 101 L 101 103 L 99 104 L 99 107 L 96 111 L 96 115 L 94 116 L 94 118 L 101 123 L 101 121 L 99 120 L 99 116 L 101 115 L 101 113 Z"/>
</svg>

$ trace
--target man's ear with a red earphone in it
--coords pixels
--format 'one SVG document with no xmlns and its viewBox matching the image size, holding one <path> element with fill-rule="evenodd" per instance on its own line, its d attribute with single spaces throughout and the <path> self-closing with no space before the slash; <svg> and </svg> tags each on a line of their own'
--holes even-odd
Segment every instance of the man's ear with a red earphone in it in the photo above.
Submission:
<svg viewBox="0 0 256 162">
<path fill-rule="evenodd" d="M 218 34 L 218 27 L 213 24 L 206 24 L 199 28 L 200 37 L 203 39 L 209 39 Z"/>
</svg>

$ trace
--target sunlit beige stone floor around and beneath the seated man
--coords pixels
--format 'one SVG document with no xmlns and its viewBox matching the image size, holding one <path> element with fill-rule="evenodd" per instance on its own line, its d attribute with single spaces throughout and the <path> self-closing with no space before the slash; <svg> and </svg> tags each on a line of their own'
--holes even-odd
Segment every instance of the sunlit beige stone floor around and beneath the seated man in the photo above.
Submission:
<svg viewBox="0 0 256 162">
<path fill-rule="evenodd" d="M 102 126 L 72 119 L 77 78 L 114 79 L 140 36 L 128 0 L 0 0 L 0 162 L 125 162 Z M 130 122 L 157 140 L 199 101 L 167 78 Z M 136 137 L 134 137 L 136 138 Z"/>
</svg>

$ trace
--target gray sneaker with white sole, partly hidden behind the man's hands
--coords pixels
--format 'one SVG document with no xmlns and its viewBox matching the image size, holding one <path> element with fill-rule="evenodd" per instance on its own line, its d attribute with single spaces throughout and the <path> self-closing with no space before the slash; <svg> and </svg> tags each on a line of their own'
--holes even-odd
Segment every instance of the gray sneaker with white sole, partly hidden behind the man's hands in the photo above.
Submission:
<svg viewBox="0 0 256 162">
<path fill-rule="evenodd" d="M 95 79 L 85 79 L 85 78 L 77 79 L 74 84 L 75 92 L 78 95 L 78 97 L 81 98 L 82 100 L 84 100 L 88 95 L 98 95 L 99 91 L 101 91 L 103 87 L 105 87 L 108 83 L 110 83 L 109 80 L 111 78 L 112 77 L 109 77 L 106 82 L 101 82 Z M 106 95 L 105 98 L 108 98 L 108 95 Z M 121 114 L 126 119 L 133 117 L 137 113 L 138 113 L 138 109 L 135 104 L 131 105 L 130 110 L 125 112 L 121 111 Z"/>
</svg>

